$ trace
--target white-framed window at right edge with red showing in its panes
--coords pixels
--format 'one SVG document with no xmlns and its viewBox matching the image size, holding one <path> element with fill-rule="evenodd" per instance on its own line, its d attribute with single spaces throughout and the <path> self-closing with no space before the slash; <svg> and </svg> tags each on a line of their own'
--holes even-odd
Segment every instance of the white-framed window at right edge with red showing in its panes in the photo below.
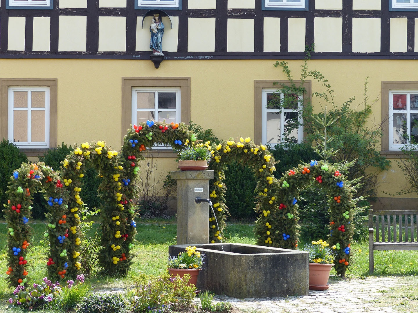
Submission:
<svg viewBox="0 0 418 313">
<path fill-rule="evenodd" d="M 418 143 L 418 90 L 389 91 L 389 150 Z"/>
</svg>

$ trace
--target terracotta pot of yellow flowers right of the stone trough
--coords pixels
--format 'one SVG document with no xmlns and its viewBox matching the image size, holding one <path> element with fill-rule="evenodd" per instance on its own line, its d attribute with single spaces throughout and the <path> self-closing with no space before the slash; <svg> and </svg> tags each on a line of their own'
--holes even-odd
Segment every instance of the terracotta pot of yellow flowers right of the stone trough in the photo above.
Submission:
<svg viewBox="0 0 418 313">
<path fill-rule="evenodd" d="M 326 290 L 329 288 L 329 272 L 334 265 L 335 252 L 322 239 L 305 245 L 303 250 L 309 252 L 309 289 Z"/>
</svg>

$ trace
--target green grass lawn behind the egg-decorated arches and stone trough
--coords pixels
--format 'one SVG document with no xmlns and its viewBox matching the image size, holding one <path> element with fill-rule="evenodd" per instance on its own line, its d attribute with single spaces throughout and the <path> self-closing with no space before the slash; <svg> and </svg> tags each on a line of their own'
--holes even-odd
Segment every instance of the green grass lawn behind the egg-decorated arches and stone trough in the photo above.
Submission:
<svg viewBox="0 0 418 313">
<path fill-rule="evenodd" d="M 127 288 L 139 278 L 141 274 L 158 275 L 166 271 L 168 260 L 168 246 L 176 244 L 176 224 L 175 220 L 138 220 L 138 235 L 135 237 L 135 247 L 132 253 L 135 255 L 131 270 L 126 277 L 109 278 L 102 277 L 93 273 L 89 278 L 89 283 L 97 288 L 120 287 Z M 28 253 L 29 275 L 33 282 L 39 282 L 46 276 L 46 260 L 48 258 L 48 242 L 43 239 L 43 232 L 46 225 L 43 222 L 35 221 L 31 223 L 33 227 L 33 239 L 30 241 L 31 250 Z M 92 230 L 87 234 L 91 236 L 97 229 L 94 224 Z M 228 224 L 224 232 L 224 242 L 239 242 L 255 244 L 252 232 L 252 225 Z M 7 245 L 7 225 L 0 223 L 0 255 L 3 263 L 0 267 L 0 300 L 2 305 L 0 311 L 5 308 L 5 301 L 9 298 L 12 288 L 8 288 L 6 277 L 6 245 Z M 368 243 L 363 240 L 353 242 L 352 245 L 352 265 L 347 271 L 347 276 L 357 278 L 369 275 L 368 262 Z M 331 275 L 335 271 L 331 271 Z M 375 272 L 373 275 L 413 275 L 418 274 L 418 251 L 375 251 Z"/>
</svg>

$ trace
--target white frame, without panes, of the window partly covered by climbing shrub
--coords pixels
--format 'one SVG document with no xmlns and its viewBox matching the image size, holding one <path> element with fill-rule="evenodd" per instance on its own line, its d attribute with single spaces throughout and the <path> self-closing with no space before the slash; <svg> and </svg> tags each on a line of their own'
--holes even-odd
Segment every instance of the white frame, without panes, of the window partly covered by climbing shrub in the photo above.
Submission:
<svg viewBox="0 0 418 313">
<path fill-rule="evenodd" d="M 267 94 L 268 93 L 277 93 L 277 88 L 263 88 L 261 91 L 261 103 L 262 103 L 262 111 L 261 111 L 261 142 L 263 144 L 269 144 L 267 142 L 267 113 L 268 112 L 279 112 L 280 111 L 280 142 L 284 137 L 284 114 L 285 112 L 297 112 L 293 109 L 267 109 Z M 301 95 L 303 97 L 303 95 Z M 280 93 L 280 98 L 284 98 L 284 93 Z M 302 109 L 303 106 L 303 98 L 298 100 L 298 107 Z M 298 120 L 301 126 L 298 128 L 298 143 L 303 141 L 303 119 L 301 118 L 300 114 L 298 114 Z M 271 145 L 275 146 L 276 142 L 272 143 Z"/>
</svg>

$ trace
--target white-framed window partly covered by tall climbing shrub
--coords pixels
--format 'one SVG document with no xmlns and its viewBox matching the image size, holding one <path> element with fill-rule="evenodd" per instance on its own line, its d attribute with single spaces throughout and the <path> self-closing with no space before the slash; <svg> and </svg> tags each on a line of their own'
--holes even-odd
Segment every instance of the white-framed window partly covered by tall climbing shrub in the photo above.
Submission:
<svg viewBox="0 0 418 313">
<path fill-rule="evenodd" d="M 263 88 L 262 90 L 262 134 L 263 144 L 274 146 L 283 142 L 285 136 L 293 142 L 303 141 L 303 121 L 298 113 L 302 106 L 302 98 L 288 95 L 290 101 L 284 101 L 284 93 L 277 93 L 277 89 Z M 289 100 L 289 98 L 288 98 Z M 283 106 L 283 103 L 286 103 Z"/>
</svg>

